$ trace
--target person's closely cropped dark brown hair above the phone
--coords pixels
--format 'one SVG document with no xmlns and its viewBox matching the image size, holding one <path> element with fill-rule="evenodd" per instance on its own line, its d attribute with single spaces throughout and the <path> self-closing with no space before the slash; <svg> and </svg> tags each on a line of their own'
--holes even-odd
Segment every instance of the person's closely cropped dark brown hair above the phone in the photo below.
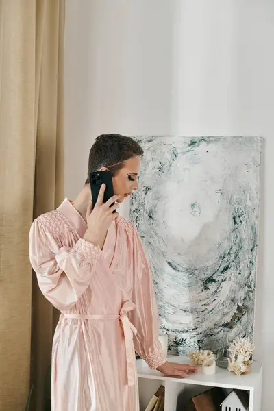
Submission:
<svg viewBox="0 0 274 411">
<path fill-rule="evenodd" d="M 130 158 L 140 157 L 144 151 L 133 138 L 121 134 L 101 134 L 95 140 L 88 157 L 88 178 L 92 171 L 108 167 L 114 176 L 123 169 L 123 162 Z"/>
</svg>

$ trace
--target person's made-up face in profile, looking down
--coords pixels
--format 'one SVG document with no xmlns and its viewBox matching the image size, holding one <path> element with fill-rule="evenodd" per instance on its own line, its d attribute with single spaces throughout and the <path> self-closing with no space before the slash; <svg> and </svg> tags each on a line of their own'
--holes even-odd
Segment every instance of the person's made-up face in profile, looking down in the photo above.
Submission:
<svg viewBox="0 0 274 411">
<path fill-rule="evenodd" d="M 123 169 L 112 178 L 114 194 L 121 196 L 117 203 L 123 203 L 125 197 L 131 195 L 133 190 L 138 190 L 139 173 L 140 157 L 134 157 L 125 161 Z"/>
</svg>

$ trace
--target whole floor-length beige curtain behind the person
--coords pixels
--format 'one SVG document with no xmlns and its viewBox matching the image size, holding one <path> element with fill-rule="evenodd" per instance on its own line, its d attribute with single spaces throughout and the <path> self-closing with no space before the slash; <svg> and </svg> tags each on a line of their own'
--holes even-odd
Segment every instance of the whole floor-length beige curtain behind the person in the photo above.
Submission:
<svg viewBox="0 0 274 411">
<path fill-rule="evenodd" d="M 42 411 L 51 362 L 28 234 L 63 197 L 63 40 L 64 0 L 0 0 L 0 411 L 24 410 L 32 382 Z"/>
</svg>

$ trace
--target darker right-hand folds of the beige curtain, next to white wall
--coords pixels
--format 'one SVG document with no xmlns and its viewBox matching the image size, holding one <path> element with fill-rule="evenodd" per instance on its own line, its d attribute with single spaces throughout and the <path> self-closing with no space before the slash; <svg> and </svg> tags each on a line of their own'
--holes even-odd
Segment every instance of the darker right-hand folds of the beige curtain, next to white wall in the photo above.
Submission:
<svg viewBox="0 0 274 411">
<path fill-rule="evenodd" d="M 38 1 L 36 30 L 37 134 L 34 218 L 62 201 L 63 159 L 63 33 L 64 2 Z M 40 54 L 39 54 L 40 53 Z M 42 319 L 42 321 L 41 321 Z M 51 343 L 58 312 L 43 297 L 33 273 L 32 380 L 34 410 L 42 410 L 45 373 L 51 362 Z"/>
</svg>

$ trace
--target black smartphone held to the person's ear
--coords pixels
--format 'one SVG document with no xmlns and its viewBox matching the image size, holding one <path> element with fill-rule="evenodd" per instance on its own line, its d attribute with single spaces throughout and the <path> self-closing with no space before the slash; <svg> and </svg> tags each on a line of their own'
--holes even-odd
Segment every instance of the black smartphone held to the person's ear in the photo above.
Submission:
<svg viewBox="0 0 274 411">
<path fill-rule="evenodd" d="M 114 195 L 113 184 L 112 184 L 112 173 L 110 173 L 110 171 L 108 170 L 92 171 L 92 173 L 90 173 L 90 188 L 91 188 L 93 207 L 97 203 L 99 191 L 101 189 L 102 184 L 105 184 L 105 192 L 103 194 L 103 203 L 106 203 L 110 199 L 110 197 Z M 114 203 L 112 203 L 111 206 L 113 206 L 113 204 Z"/>
</svg>

